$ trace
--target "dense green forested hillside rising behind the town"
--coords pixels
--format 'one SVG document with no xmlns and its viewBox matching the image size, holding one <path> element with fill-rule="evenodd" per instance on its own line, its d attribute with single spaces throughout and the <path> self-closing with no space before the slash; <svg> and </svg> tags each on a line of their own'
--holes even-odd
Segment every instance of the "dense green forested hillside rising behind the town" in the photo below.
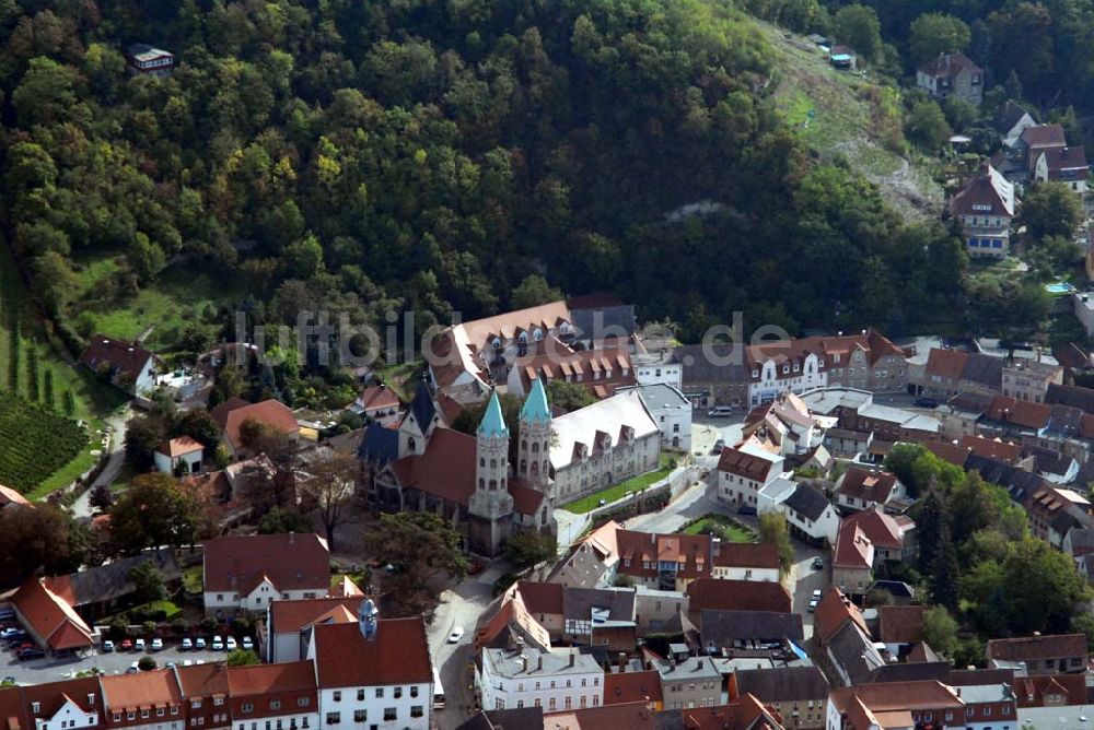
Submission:
<svg viewBox="0 0 1094 730">
<path fill-rule="evenodd" d="M 899 332 L 961 302 L 958 243 L 811 162 L 759 91 L 771 49 L 725 2 L 7 0 L 0 16 L 4 228 L 74 344 L 110 313 L 181 306 L 191 280 L 201 306 L 159 344 L 197 349 L 238 306 L 412 307 L 426 325 L 548 286 L 619 292 L 685 337 L 734 310 Z M 128 74 L 135 42 L 178 68 Z M 701 200 L 721 205 L 670 222 Z"/>
</svg>

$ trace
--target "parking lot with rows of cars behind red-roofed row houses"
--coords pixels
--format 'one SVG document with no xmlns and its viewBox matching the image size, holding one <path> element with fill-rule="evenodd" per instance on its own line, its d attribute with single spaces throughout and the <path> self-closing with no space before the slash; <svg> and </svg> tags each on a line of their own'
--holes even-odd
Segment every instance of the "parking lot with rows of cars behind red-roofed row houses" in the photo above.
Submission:
<svg viewBox="0 0 1094 730">
<path fill-rule="evenodd" d="M 182 651 L 178 648 L 179 641 L 176 639 L 165 640 L 164 644 L 164 648 L 155 652 L 110 651 L 103 654 L 96 646 L 95 649 L 80 656 L 60 658 L 47 656 L 44 659 L 28 661 L 16 659 L 15 652 L 4 645 L 0 649 L 0 680 L 12 678 L 20 684 L 39 684 L 69 678 L 91 669 L 97 669 L 104 674 L 120 674 L 142 656 L 152 657 L 160 667 L 164 667 L 168 662 L 176 664 L 184 664 L 186 661 L 210 663 L 223 661 L 228 657 L 228 651 L 213 651 L 211 649 Z"/>
</svg>

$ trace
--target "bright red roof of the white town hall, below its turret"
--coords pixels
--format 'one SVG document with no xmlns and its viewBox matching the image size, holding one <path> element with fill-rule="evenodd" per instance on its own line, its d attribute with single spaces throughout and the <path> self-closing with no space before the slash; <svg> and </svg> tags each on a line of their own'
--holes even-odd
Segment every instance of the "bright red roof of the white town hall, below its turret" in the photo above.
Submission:
<svg viewBox="0 0 1094 730">
<path fill-rule="evenodd" d="M 381 620 L 372 640 L 358 624 L 316 626 L 314 640 L 322 688 L 426 684 L 433 679 L 420 616 Z"/>
</svg>

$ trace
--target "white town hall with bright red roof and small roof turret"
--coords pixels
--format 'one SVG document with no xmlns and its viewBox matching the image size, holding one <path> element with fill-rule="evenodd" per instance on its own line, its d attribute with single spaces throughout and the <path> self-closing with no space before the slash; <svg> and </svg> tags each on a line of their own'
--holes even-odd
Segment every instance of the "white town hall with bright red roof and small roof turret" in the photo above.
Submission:
<svg viewBox="0 0 1094 730">
<path fill-rule="evenodd" d="M 357 622 L 315 626 L 307 657 L 324 725 L 429 730 L 433 666 L 420 616 L 381 621 L 365 600 Z"/>
</svg>

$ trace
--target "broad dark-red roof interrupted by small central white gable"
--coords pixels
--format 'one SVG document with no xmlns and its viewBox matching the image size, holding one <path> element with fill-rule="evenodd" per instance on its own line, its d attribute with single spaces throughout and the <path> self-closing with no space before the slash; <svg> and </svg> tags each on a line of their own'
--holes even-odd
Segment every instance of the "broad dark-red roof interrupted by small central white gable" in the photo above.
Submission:
<svg viewBox="0 0 1094 730">
<path fill-rule="evenodd" d="M 205 545 L 206 592 L 249 593 L 268 577 L 279 591 L 330 587 L 330 551 L 315 533 L 224 535 Z"/>
</svg>

